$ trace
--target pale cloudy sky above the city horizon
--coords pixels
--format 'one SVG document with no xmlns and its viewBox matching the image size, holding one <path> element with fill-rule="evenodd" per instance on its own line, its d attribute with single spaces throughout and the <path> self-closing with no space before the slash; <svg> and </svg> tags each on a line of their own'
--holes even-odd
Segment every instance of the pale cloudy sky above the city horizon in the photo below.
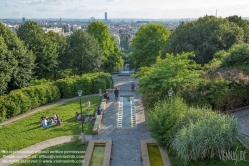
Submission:
<svg viewBox="0 0 249 166">
<path fill-rule="evenodd" d="M 0 19 L 249 17 L 249 0 L 0 0 Z"/>
</svg>

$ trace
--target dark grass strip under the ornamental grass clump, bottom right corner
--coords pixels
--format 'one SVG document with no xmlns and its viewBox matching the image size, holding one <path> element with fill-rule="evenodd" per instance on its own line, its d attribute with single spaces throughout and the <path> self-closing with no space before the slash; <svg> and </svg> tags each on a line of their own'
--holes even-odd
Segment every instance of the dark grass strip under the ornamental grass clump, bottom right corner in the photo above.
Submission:
<svg viewBox="0 0 249 166">
<path fill-rule="evenodd" d="M 243 156 L 242 154 L 240 155 L 240 152 L 242 152 L 242 151 L 246 152 L 245 156 Z M 220 159 L 219 156 L 217 156 L 212 160 L 191 162 L 191 163 L 188 163 L 187 166 L 233 166 L 233 165 L 246 166 L 246 165 L 249 165 L 248 149 L 246 149 L 242 144 L 240 144 L 239 142 L 234 143 L 230 152 L 236 152 L 236 153 L 234 153 L 234 154 L 236 154 L 234 156 L 237 156 L 237 161 L 236 161 L 236 157 L 233 157 L 235 160 L 231 160 L 230 157 L 227 160 L 225 158 L 223 158 L 224 160 L 222 160 L 222 158 Z M 181 163 L 179 158 L 177 158 L 175 153 L 173 153 L 173 152 L 167 152 L 167 153 L 168 153 L 168 156 L 169 156 L 169 159 L 170 159 L 172 166 L 183 166 L 183 164 Z M 224 156 L 228 156 L 228 155 L 224 155 Z M 242 158 L 241 158 L 241 156 L 242 156 Z"/>
</svg>

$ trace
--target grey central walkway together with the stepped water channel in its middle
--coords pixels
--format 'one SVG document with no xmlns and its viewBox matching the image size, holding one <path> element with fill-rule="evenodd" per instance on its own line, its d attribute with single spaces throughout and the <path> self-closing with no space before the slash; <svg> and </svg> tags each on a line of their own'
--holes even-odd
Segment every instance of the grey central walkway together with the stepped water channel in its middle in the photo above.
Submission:
<svg viewBox="0 0 249 166">
<path fill-rule="evenodd" d="M 142 166 L 140 140 L 153 139 L 148 131 L 142 96 L 131 91 L 131 83 L 134 82 L 137 86 L 138 80 L 118 74 L 112 77 L 114 87 L 120 89 L 120 97 L 116 101 L 114 93 L 109 92 L 110 100 L 106 105 L 101 130 L 92 140 L 113 141 L 111 166 Z"/>
</svg>

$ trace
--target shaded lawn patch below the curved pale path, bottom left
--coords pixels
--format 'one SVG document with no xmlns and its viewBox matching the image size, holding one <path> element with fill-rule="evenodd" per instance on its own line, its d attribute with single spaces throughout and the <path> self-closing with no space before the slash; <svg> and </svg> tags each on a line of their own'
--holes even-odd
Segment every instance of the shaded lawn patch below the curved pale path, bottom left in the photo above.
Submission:
<svg viewBox="0 0 249 166">
<path fill-rule="evenodd" d="M 12 166 L 33 166 L 33 165 L 67 165 L 82 166 L 87 144 L 70 142 L 50 148 L 46 148 L 42 153 L 36 153 Z"/>
</svg>

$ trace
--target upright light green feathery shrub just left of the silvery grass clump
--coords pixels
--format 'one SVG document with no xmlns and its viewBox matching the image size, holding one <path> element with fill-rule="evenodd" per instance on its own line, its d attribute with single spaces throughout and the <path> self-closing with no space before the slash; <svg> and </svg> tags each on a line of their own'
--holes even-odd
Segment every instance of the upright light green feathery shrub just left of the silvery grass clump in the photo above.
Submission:
<svg viewBox="0 0 249 166">
<path fill-rule="evenodd" d="M 169 146 L 172 127 L 187 112 L 188 106 L 180 97 L 157 102 L 149 111 L 149 129 L 160 146 Z"/>
</svg>

